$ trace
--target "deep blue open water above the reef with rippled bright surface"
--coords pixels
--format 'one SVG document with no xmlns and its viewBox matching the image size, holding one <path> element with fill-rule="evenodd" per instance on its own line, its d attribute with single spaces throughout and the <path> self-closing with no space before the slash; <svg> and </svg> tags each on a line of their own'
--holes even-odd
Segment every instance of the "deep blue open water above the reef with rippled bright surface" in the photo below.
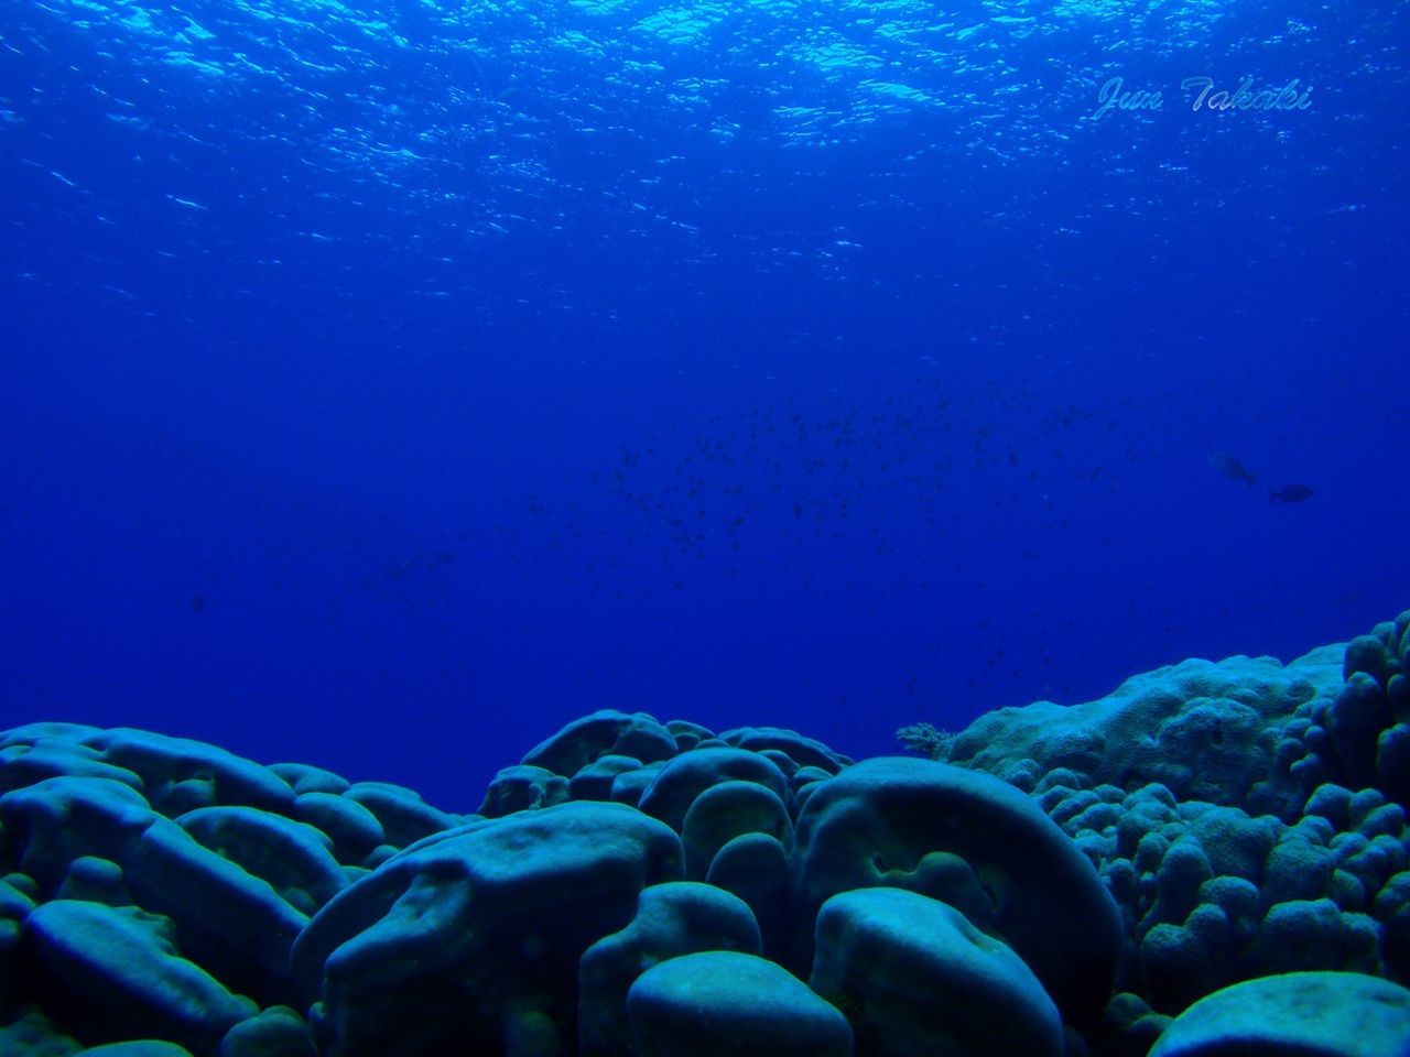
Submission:
<svg viewBox="0 0 1410 1057">
<path fill-rule="evenodd" d="M 864 755 L 1359 634 L 1410 605 L 1407 45 L 1389 0 L 11 0 L 0 727 L 470 810 L 596 707 Z"/>
</svg>

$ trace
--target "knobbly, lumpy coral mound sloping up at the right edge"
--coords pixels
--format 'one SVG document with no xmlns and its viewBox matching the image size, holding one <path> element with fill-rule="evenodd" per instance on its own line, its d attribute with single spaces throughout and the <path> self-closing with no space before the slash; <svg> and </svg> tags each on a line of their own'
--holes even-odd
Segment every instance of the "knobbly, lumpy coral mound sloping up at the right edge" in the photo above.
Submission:
<svg viewBox="0 0 1410 1057">
<path fill-rule="evenodd" d="M 940 758 L 1026 791 L 1087 854 L 1125 920 L 1120 988 L 1162 1013 L 1277 972 L 1403 984 L 1407 629 L 1004 709 Z"/>
</svg>

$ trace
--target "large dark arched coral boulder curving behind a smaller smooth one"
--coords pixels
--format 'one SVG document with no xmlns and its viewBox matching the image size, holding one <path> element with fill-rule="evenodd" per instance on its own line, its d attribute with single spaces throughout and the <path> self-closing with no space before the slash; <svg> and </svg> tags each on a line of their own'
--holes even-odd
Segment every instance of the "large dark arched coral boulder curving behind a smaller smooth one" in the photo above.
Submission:
<svg viewBox="0 0 1410 1057">
<path fill-rule="evenodd" d="M 928 760 L 863 760 L 798 817 L 801 960 L 822 905 L 893 886 L 963 912 L 1022 957 L 1074 1019 L 1100 1013 L 1121 957 L 1121 915 L 1091 863 L 1014 786 Z"/>
</svg>

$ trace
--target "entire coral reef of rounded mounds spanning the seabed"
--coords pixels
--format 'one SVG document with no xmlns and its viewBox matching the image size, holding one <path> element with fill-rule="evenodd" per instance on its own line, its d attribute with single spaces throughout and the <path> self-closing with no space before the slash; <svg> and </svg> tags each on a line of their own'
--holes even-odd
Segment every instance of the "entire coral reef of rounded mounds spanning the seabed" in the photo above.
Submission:
<svg viewBox="0 0 1410 1057">
<path fill-rule="evenodd" d="M 932 760 L 603 710 L 468 816 L 17 727 L 0 1053 L 1404 1057 L 1407 650 L 1186 661 Z"/>
</svg>

